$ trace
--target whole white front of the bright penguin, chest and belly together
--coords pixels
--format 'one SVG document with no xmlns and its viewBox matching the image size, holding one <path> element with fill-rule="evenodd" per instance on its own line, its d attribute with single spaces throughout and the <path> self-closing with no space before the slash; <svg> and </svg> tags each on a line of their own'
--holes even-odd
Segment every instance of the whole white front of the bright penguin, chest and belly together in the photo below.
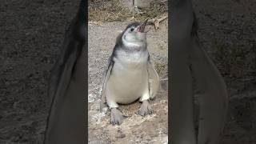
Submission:
<svg viewBox="0 0 256 144">
<path fill-rule="evenodd" d="M 134 102 L 148 91 L 146 55 L 114 59 L 114 67 L 109 79 L 112 98 L 118 103 Z"/>
</svg>

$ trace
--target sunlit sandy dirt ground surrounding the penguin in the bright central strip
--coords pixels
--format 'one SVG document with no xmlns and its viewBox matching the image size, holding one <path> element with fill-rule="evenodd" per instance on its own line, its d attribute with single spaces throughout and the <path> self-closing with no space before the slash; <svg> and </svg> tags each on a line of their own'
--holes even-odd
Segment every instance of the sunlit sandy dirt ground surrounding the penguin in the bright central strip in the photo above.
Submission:
<svg viewBox="0 0 256 144">
<path fill-rule="evenodd" d="M 150 30 L 148 49 L 161 78 L 167 74 L 167 29 L 162 22 L 159 30 Z M 168 90 L 161 89 L 153 101 L 154 114 L 145 118 L 136 114 L 141 104 L 134 102 L 120 106 L 128 116 L 121 126 L 110 124 L 110 111 L 99 112 L 103 71 L 118 36 L 128 22 L 103 22 L 89 25 L 89 143 L 167 143 L 168 139 Z"/>
</svg>

